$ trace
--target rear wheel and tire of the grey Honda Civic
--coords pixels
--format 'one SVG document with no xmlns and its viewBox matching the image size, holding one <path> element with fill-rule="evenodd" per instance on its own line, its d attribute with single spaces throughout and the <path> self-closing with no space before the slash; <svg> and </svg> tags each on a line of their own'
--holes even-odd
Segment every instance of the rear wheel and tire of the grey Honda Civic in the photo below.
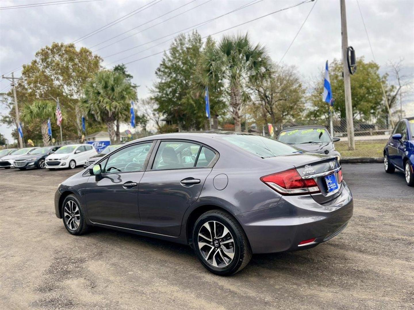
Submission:
<svg viewBox="0 0 414 310">
<path fill-rule="evenodd" d="M 227 276 L 250 261 L 252 250 L 240 224 L 228 213 L 203 213 L 193 228 L 193 247 L 202 265 L 214 274 Z"/>
</svg>

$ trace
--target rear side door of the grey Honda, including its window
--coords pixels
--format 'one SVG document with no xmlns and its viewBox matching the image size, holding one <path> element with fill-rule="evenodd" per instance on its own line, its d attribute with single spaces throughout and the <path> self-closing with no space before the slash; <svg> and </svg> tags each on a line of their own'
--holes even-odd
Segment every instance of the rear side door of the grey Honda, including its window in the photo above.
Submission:
<svg viewBox="0 0 414 310">
<path fill-rule="evenodd" d="M 193 141 L 164 140 L 158 144 L 154 160 L 150 160 L 152 166 L 139 185 L 141 229 L 178 236 L 185 210 L 200 196 L 218 155 Z M 200 153 L 204 160 L 197 165 Z"/>
</svg>

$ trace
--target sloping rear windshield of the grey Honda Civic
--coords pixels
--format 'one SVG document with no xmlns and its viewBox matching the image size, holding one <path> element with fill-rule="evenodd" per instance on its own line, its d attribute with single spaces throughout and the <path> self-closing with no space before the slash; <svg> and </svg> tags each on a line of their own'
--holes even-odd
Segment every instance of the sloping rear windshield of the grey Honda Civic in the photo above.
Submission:
<svg viewBox="0 0 414 310">
<path fill-rule="evenodd" d="M 262 136 L 234 134 L 221 138 L 262 158 L 303 153 L 297 148 Z"/>
</svg>

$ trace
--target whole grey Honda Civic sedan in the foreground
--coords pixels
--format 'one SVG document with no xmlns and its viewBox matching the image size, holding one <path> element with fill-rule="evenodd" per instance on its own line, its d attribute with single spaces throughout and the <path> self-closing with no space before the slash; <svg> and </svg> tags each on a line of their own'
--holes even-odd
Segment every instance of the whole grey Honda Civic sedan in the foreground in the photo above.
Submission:
<svg viewBox="0 0 414 310">
<path fill-rule="evenodd" d="M 189 244 L 214 274 L 254 253 L 314 247 L 352 216 L 337 157 L 252 134 L 141 138 L 59 184 L 67 231 L 99 226 Z"/>
</svg>

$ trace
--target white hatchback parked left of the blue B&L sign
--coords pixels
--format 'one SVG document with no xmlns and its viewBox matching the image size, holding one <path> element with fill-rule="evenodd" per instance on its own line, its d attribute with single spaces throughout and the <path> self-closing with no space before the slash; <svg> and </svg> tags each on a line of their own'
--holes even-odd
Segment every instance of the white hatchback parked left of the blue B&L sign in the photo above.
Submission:
<svg viewBox="0 0 414 310">
<path fill-rule="evenodd" d="M 46 157 L 45 166 L 50 170 L 60 168 L 74 169 L 76 166 L 83 165 L 85 160 L 96 154 L 98 152 L 90 144 L 63 145 L 55 153 Z"/>
</svg>

